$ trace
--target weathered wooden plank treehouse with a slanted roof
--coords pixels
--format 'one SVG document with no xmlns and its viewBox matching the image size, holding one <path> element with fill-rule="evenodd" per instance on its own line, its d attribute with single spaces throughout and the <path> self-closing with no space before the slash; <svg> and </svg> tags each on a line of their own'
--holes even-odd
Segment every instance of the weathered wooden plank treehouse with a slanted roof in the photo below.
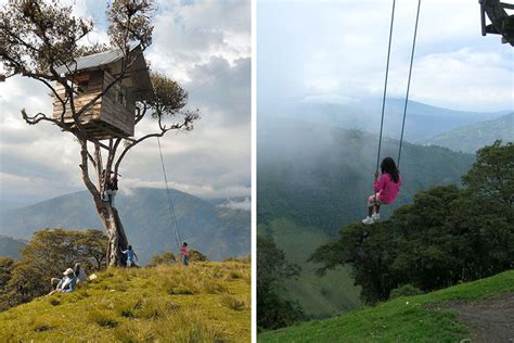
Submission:
<svg viewBox="0 0 514 343">
<path fill-rule="evenodd" d="M 69 82 L 75 89 L 76 112 L 120 75 L 123 56 L 121 50 L 106 51 L 80 58 L 76 64 L 56 69 L 57 73 L 69 75 Z M 128 60 L 131 61 L 132 58 L 133 63 L 127 68 L 124 77 L 79 116 L 86 131 L 98 139 L 133 136 L 136 102 L 147 99 L 152 82 L 139 46 L 130 50 Z M 59 82 L 55 90 L 62 99 L 66 98 L 65 89 Z M 62 113 L 63 105 L 54 98 L 53 117 L 60 119 Z M 75 126 L 69 103 L 66 104 L 64 123 L 69 124 L 72 128 Z"/>
</svg>

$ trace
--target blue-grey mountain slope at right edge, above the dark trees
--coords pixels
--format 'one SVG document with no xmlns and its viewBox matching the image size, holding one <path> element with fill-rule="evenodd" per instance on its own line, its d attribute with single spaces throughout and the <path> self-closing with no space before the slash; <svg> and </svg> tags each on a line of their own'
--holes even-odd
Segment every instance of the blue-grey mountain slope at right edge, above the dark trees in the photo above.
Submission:
<svg viewBox="0 0 514 343">
<path fill-rule="evenodd" d="M 429 139 L 428 145 L 474 153 L 494 140 L 514 141 L 514 112 L 497 119 L 465 125 Z"/>
</svg>

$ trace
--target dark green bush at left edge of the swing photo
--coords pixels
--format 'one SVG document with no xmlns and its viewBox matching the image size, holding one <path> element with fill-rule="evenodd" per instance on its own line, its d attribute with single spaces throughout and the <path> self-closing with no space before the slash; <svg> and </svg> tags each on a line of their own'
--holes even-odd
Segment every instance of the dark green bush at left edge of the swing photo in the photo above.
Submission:
<svg viewBox="0 0 514 343">
<path fill-rule="evenodd" d="M 287 263 L 271 238 L 257 236 L 257 326 L 277 329 L 303 316 L 297 303 L 284 297 L 284 281 L 297 277 L 299 266 Z"/>
</svg>

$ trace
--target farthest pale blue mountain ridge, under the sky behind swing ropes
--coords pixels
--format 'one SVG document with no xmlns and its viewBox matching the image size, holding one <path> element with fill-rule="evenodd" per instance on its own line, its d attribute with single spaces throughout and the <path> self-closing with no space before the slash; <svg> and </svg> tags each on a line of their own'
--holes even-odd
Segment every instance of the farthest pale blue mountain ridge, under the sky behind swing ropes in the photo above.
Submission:
<svg viewBox="0 0 514 343">
<path fill-rule="evenodd" d="M 387 100 L 384 136 L 400 137 L 403 105 L 402 99 Z M 382 101 L 354 100 L 348 103 L 294 101 L 285 104 L 261 104 L 258 111 L 259 123 L 269 122 L 270 117 L 279 117 L 375 134 L 380 130 Z M 494 119 L 506 113 L 509 112 L 454 111 L 409 101 L 404 139 L 410 142 L 424 142 L 463 125 Z"/>
</svg>

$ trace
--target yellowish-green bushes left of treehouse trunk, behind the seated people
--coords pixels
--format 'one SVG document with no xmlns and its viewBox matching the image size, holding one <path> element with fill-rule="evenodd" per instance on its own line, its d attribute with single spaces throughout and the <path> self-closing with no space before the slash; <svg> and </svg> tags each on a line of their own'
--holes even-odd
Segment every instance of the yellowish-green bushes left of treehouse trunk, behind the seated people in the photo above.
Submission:
<svg viewBox="0 0 514 343">
<path fill-rule="evenodd" d="M 100 270 L 106 245 L 107 238 L 99 230 L 37 231 L 23 249 L 22 261 L 10 263 L 0 259 L 0 264 L 5 267 L 0 281 L 5 284 L 0 289 L 0 309 L 26 303 L 50 292 L 50 279 L 61 277 L 75 263 L 82 263 L 85 266 L 94 261 L 90 270 Z"/>
</svg>

